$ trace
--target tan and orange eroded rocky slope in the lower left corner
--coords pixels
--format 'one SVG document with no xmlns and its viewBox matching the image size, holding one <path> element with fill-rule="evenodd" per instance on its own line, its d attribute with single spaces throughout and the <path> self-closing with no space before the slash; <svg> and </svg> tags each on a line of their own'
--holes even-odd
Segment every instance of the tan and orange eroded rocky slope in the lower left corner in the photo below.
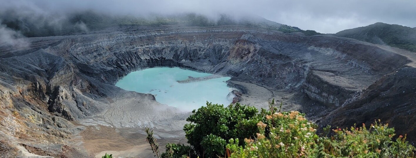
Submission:
<svg viewBox="0 0 416 158">
<path fill-rule="evenodd" d="M 15 87 L 0 85 L 2 157 L 85 157 L 84 153 L 66 145 L 70 136 L 82 129 L 62 117 L 51 115 L 43 95 L 35 91 L 40 89 L 39 86 L 15 81 Z"/>
</svg>

